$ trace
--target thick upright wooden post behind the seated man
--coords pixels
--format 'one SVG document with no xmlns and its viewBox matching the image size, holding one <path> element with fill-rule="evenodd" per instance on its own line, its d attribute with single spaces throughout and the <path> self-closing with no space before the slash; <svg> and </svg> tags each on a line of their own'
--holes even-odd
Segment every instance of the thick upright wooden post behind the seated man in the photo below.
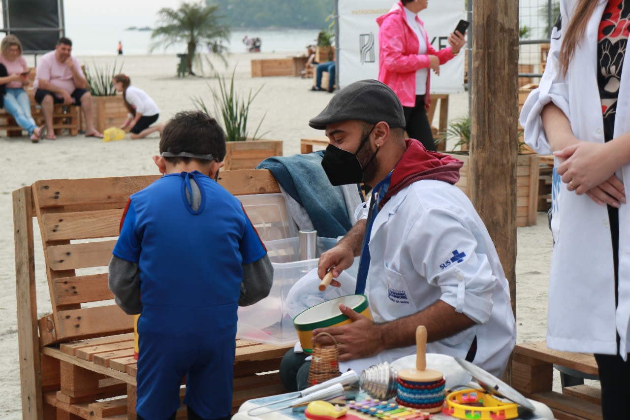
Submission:
<svg viewBox="0 0 630 420">
<path fill-rule="evenodd" d="M 474 0 L 473 33 L 471 201 L 495 242 L 516 315 L 518 1 Z"/>
</svg>

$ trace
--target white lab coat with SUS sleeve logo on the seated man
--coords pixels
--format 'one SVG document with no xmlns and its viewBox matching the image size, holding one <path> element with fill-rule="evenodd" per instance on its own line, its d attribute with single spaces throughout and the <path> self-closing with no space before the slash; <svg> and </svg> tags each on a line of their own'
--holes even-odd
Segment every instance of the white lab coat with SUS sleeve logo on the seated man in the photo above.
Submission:
<svg viewBox="0 0 630 420">
<path fill-rule="evenodd" d="M 416 313 L 442 300 L 477 325 L 427 345 L 427 353 L 466 358 L 503 375 L 516 341 L 510 289 L 473 204 L 454 185 L 420 180 L 394 195 L 374 219 L 370 235 L 369 303 L 376 322 Z M 416 352 L 390 349 L 341 367 L 365 368 Z"/>
</svg>

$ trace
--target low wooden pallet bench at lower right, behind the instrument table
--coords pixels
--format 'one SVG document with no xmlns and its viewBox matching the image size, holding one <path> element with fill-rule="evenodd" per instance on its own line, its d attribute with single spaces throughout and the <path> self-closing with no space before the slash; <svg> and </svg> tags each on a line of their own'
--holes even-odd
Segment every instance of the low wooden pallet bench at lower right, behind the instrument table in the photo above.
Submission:
<svg viewBox="0 0 630 420">
<path fill-rule="evenodd" d="M 527 342 L 514 347 L 512 387 L 525 397 L 547 404 L 557 420 L 601 420 L 599 388 L 575 385 L 553 391 L 553 366 L 597 375 L 592 354 L 548 349 L 544 342 Z"/>
</svg>

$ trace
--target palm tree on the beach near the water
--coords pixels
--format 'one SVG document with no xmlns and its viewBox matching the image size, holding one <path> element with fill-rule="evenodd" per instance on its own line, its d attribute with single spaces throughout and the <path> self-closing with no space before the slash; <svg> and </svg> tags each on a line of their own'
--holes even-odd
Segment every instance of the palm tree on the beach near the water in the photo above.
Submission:
<svg viewBox="0 0 630 420">
<path fill-rule="evenodd" d="M 163 8 L 157 12 L 159 23 L 151 33 L 151 39 L 157 40 L 151 45 L 151 51 L 170 45 L 185 43 L 186 66 L 188 73 L 193 73 L 193 62 L 202 64 L 197 48 L 202 45 L 214 44 L 222 40 L 229 42 L 230 30 L 227 26 L 219 23 L 222 16 L 217 15 L 219 6 L 206 6 L 200 3 L 182 3 L 179 9 Z M 213 48 L 212 54 L 219 57 L 227 67 L 227 60 L 222 49 Z M 214 65 L 207 60 L 210 69 L 214 70 Z"/>
</svg>

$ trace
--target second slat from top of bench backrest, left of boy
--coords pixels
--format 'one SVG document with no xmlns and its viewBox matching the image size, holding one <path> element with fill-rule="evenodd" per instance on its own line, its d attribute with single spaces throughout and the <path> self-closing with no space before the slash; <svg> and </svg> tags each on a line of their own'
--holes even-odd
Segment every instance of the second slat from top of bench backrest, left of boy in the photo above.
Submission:
<svg viewBox="0 0 630 420">
<path fill-rule="evenodd" d="M 118 236 L 123 209 L 43 214 L 40 226 L 45 242 Z"/>
</svg>

